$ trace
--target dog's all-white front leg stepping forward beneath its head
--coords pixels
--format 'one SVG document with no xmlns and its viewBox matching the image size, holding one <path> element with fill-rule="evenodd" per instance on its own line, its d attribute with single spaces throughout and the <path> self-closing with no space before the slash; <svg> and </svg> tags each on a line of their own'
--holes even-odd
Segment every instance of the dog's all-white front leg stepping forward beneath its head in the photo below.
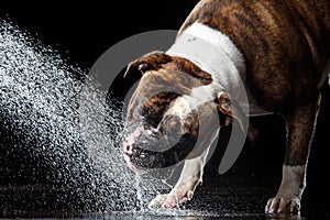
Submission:
<svg viewBox="0 0 330 220">
<path fill-rule="evenodd" d="M 206 155 L 207 152 L 204 152 L 198 157 L 186 160 L 180 177 L 170 193 L 158 195 L 151 201 L 150 207 L 174 208 L 190 200 L 195 189 L 202 182 Z"/>
</svg>

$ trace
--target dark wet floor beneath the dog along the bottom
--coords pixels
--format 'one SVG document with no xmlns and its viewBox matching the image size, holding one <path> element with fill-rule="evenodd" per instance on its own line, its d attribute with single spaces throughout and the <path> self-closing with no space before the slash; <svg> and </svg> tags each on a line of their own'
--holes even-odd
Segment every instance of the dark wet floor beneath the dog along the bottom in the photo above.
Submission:
<svg viewBox="0 0 330 220">
<path fill-rule="evenodd" d="M 194 199 L 182 209 L 85 212 L 74 210 L 73 198 L 52 187 L 1 187 L 0 216 L 21 218 L 79 219 L 329 219 L 330 202 L 316 188 L 306 190 L 299 216 L 265 215 L 267 198 L 276 193 L 278 179 L 222 176 L 206 178 Z M 315 186 L 311 186 L 315 187 Z M 328 193 L 329 195 L 329 193 Z M 61 198 L 61 199 L 58 199 Z M 70 207 L 72 206 L 72 207 Z"/>
</svg>

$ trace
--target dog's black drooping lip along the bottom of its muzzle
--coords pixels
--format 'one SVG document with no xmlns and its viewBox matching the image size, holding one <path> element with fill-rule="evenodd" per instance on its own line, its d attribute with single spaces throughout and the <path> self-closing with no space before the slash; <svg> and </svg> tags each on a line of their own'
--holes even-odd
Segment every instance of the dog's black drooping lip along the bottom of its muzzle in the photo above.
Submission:
<svg viewBox="0 0 330 220">
<path fill-rule="evenodd" d="M 184 134 L 179 141 L 173 147 L 166 147 L 166 151 L 152 151 L 151 145 L 155 145 L 155 148 L 160 150 L 160 143 L 148 143 L 146 147 L 136 146 L 133 148 L 131 162 L 141 168 L 165 168 L 173 166 L 187 157 L 187 155 L 194 150 L 197 139 L 189 134 Z M 147 143 L 145 143 L 147 144 Z"/>
</svg>

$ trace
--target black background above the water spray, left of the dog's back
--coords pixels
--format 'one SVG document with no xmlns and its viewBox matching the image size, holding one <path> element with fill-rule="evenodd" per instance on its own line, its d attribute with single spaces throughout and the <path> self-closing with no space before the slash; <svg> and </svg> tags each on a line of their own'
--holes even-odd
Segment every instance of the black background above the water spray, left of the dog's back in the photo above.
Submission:
<svg viewBox="0 0 330 220">
<path fill-rule="evenodd" d="M 175 7 L 174 7 L 175 2 Z M 89 68 L 119 41 L 152 30 L 178 30 L 197 1 L 7 1 L 8 16 L 64 57 Z"/>
</svg>

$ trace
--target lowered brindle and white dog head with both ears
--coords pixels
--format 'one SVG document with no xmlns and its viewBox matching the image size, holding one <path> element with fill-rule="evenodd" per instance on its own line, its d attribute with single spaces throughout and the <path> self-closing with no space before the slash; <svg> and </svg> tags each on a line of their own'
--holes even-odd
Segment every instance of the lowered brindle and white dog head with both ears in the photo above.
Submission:
<svg viewBox="0 0 330 220">
<path fill-rule="evenodd" d="M 142 75 L 123 141 L 132 169 L 168 167 L 200 155 L 217 135 L 218 110 L 233 116 L 228 95 L 218 97 L 212 76 L 188 59 L 153 52 L 129 64 L 130 74 Z"/>
</svg>

